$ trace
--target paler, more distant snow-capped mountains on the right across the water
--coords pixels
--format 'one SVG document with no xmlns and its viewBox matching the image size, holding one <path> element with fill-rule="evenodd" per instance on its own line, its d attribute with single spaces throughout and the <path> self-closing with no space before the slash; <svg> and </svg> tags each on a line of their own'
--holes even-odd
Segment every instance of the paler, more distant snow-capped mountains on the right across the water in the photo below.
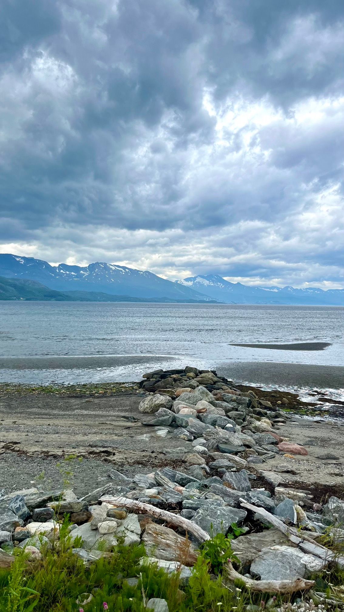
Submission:
<svg viewBox="0 0 344 612">
<path fill-rule="evenodd" d="M 290 304 L 344 306 L 344 289 L 323 291 L 316 287 L 294 289 L 294 287 L 251 287 L 241 283 L 230 283 L 218 274 L 198 275 L 176 281 L 205 293 L 212 299 L 227 304 Z"/>
</svg>

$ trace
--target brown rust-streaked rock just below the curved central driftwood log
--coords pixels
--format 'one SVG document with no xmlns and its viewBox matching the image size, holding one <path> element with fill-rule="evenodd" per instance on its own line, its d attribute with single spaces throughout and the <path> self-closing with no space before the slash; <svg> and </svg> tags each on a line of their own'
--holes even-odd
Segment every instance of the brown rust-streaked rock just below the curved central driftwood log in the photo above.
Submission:
<svg viewBox="0 0 344 612">
<path fill-rule="evenodd" d="M 148 556 L 166 561 L 182 561 L 184 565 L 194 565 L 197 554 L 190 540 L 157 523 L 148 523 L 142 536 L 144 549 Z"/>
</svg>

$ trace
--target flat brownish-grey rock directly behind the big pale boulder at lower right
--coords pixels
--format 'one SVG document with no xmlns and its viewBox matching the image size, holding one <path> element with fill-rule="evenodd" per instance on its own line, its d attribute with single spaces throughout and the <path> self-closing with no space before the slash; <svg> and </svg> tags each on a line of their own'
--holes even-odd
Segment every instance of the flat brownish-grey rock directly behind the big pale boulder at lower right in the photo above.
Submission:
<svg viewBox="0 0 344 612">
<path fill-rule="evenodd" d="M 242 565 L 248 565 L 264 548 L 288 544 L 288 538 L 279 529 L 241 535 L 231 541 L 231 549 Z"/>
</svg>

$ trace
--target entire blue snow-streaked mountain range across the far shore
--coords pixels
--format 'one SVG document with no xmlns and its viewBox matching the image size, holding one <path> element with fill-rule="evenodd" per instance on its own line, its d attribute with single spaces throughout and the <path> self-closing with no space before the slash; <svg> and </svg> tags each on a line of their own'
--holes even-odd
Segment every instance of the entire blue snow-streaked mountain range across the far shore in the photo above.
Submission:
<svg viewBox="0 0 344 612">
<path fill-rule="evenodd" d="M 295 289 L 286 287 L 253 287 L 230 283 L 217 274 L 198 275 L 175 282 L 149 271 L 95 262 L 88 266 L 51 266 L 47 261 L 18 255 L 0 255 L 0 299 L 56 299 L 64 301 L 155 301 L 155 302 L 223 302 L 226 304 L 344 305 L 344 289 Z M 32 282 L 15 288 L 36 290 L 36 297 L 13 294 L 13 286 L 3 289 L 6 279 Z M 1 293 L 2 281 L 2 293 Z M 51 296 L 47 291 L 60 293 Z M 12 297 L 1 297 L 10 295 Z M 38 292 L 38 293 L 37 293 Z M 43 293 L 42 293 L 43 292 Z M 44 292 L 47 297 L 42 297 Z M 48 297 L 50 295 L 50 297 Z M 41 297 L 37 297 L 41 296 Z"/>
</svg>

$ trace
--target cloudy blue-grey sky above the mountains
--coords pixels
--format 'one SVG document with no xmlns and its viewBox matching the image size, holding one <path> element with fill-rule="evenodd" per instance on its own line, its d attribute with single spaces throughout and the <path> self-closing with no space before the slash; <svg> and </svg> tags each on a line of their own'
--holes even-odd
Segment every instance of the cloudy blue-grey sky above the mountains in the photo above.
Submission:
<svg viewBox="0 0 344 612">
<path fill-rule="evenodd" d="M 342 0 L 2 0 L 0 252 L 344 287 Z"/>
</svg>

